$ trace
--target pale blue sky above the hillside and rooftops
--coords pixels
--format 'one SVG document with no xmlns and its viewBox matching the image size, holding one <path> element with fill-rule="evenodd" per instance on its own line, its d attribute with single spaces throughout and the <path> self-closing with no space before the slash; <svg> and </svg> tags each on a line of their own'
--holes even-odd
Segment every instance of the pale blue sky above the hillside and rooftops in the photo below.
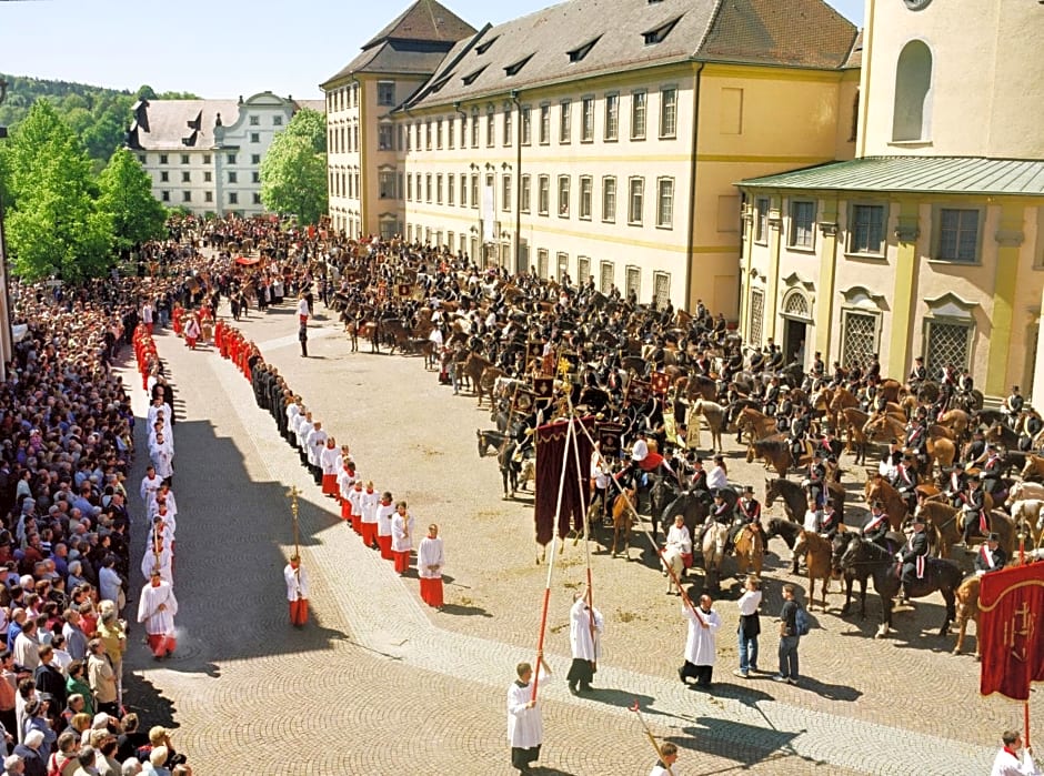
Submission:
<svg viewBox="0 0 1044 776">
<path fill-rule="evenodd" d="M 441 1 L 475 28 L 554 4 Z M 0 72 L 210 99 L 265 90 L 314 99 L 411 2 L 0 0 Z M 827 2 L 862 27 L 863 0 Z"/>
</svg>

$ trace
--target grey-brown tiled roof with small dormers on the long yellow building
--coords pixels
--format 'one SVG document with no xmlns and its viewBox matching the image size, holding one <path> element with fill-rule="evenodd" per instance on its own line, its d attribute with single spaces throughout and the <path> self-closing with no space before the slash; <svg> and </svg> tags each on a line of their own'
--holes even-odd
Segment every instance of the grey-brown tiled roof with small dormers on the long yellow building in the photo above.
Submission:
<svg viewBox="0 0 1044 776">
<path fill-rule="evenodd" d="M 661 42 L 645 43 L 643 33 L 670 22 Z M 459 42 L 413 104 L 690 59 L 837 69 L 855 36 L 823 0 L 569 0 Z M 570 61 L 570 51 L 595 39 L 582 60 Z M 506 74 L 528 57 L 518 74 Z"/>
</svg>

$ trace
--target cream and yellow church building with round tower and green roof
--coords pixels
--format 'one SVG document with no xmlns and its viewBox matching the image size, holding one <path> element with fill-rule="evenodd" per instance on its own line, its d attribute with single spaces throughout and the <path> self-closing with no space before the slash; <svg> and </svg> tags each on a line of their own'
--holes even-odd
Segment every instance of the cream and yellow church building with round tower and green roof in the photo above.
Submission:
<svg viewBox="0 0 1044 776">
<path fill-rule="evenodd" d="M 859 157 L 740 184 L 741 330 L 806 363 L 879 353 L 894 377 L 923 355 L 933 377 L 953 364 L 988 397 L 1044 402 L 1044 102 L 1026 80 L 1044 7 L 867 9 Z"/>
</svg>

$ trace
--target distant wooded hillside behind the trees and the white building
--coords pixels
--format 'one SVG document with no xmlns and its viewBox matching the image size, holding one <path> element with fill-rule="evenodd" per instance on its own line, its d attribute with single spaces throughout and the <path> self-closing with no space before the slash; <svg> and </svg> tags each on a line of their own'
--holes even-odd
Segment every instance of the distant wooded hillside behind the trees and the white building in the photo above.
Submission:
<svg viewBox="0 0 1044 776">
<path fill-rule="evenodd" d="M 188 92 L 153 91 L 143 85 L 137 92 L 104 87 L 92 87 L 71 81 L 48 81 L 28 75 L 4 75 L 8 82 L 7 100 L 0 105 L 0 125 L 13 129 L 33 102 L 48 99 L 62 119 L 80 135 L 91 159 L 103 165 L 112 152 L 123 143 L 123 132 L 130 122 L 131 105 L 144 97 L 149 100 L 195 100 Z"/>
</svg>

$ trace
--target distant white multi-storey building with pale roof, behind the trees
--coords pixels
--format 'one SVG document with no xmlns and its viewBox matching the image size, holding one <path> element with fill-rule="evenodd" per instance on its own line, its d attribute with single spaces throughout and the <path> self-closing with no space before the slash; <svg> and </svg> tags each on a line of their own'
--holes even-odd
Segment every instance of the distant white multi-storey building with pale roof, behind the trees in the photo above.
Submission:
<svg viewBox="0 0 1044 776">
<path fill-rule="evenodd" d="M 324 110 L 321 100 L 272 92 L 247 100 L 142 100 L 127 148 L 164 205 L 197 215 L 257 215 L 264 212 L 261 160 L 301 108 Z"/>
</svg>

